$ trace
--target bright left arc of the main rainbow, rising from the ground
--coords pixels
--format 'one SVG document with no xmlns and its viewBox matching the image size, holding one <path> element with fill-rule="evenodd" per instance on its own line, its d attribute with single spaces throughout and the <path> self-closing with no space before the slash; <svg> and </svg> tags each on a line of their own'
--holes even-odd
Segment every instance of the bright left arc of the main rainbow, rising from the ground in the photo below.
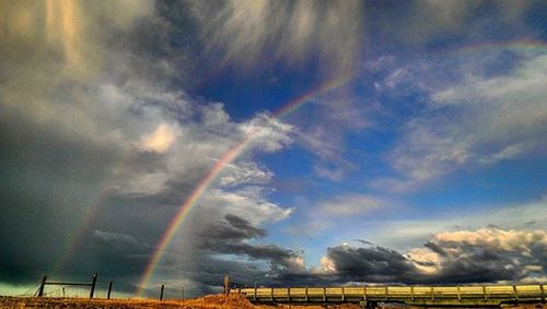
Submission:
<svg viewBox="0 0 547 309">
<path fill-rule="evenodd" d="M 312 88 L 311 91 L 306 92 L 305 94 L 301 95 L 300 97 L 289 102 L 284 106 L 282 106 L 279 110 L 277 110 L 275 114 L 272 114 L 275 119 L 280 119 L 283 117 L 287 117 L 288 115 L 298 110 L 300 107 L 302 107 L 305 103 L 311 102 L 313 98 L 316 98 L 319 95 L 326 94 L 333 90 L 336 90 L 346 83 L 348 83 L 353 75 L 351 73 L 345 73 L 339 75 L 336 79 L 329 80 L 323 84 L 319 84 L 318 86 Z M 155 248 L 152 259 L 149 261 L 147 268 L 144 269 L 144 272 L 142 274 L 142 277 L 140 280 L 139 288 L 136 293 L 137 296 L 140 296 L 144 289 L 144 287 L 148 285 L 150 278 L 152 277 L 152 274 L 154 273 L 154 270 L 160 262 L 160 260 L 163 257 L 163 253 L 165 252 L 165 249 L 167 249 L 168 243 L 173 239 L 176 230 L 181 226 L 181 224 L 184 222 L 184 219 L 187 217 L 188 213 L 190 210 L 196 205 L 196 202 L 199 200 L 199 198 L 207 191 L 207 189 L 211 186 L 211 183 L 214 181 L 217 176 L 224 169 L 224 167 L 232 163 L 235 158 L 237 158 L 245 150 L 246 147 L 253 142 L 254 139 L 258 135 L 259 131 L 254 131 L 247 134 L 247 136 L 241 141 L 240 143 L 235 144 L 232 146 L 216 164 L 207 173 L 207 175 L 199 181 L 199 183 L 196 186 L 194 191 L 190 193 L 188 199 L 181 205 L 178 209 L 178 212 L 176 213 L 175 217 L 173 221 L 168 224 L 167 229 L 163 234 L 162 238 L 160 239 L 160 242 L 158 243 L 158 247 Z"/>
</svg>

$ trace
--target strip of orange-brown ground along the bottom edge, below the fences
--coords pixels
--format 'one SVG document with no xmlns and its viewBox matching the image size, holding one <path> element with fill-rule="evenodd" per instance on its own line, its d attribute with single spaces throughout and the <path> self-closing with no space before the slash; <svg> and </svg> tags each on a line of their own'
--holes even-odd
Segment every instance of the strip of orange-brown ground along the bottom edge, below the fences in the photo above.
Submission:
<svg viewBox="0 0 547 309">
<path fill-rule="evenodd" d="M 294 306 L 294 305 L 278 305 L 278 306 L 255 306 L 251 304 L 245 297 L 240 295 L 209 295 L 195 299 L 186 300 L 152 300 L 152 299 L 86 299 L 86 298 L 18 298 L 18 297 L 0 297 L 0 308 L 184 308 L 184 309 L 261 309 L 261 308 L 293 308 L 293 309 L 324 309 L 324 308 L 339 308 L 339 309 L 358 309 L 357 305 L 331 305 L 328 307 L 322 306 Z M 389 308 L 385 306 L 383 308 Z M 393 308 L 412 308 L 405 306 L 397 306 Z M 544 304 L 532 304 L 522 306 L 503 306 L 508 309 L 547 309 Z"/>
</svg>

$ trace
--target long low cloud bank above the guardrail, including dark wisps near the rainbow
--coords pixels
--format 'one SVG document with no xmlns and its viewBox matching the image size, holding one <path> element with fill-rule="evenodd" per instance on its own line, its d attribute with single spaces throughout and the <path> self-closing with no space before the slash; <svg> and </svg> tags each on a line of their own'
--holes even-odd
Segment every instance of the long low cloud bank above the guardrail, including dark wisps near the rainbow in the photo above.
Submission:
<svg viewBox="0 0 547 309">
<path fill-rule="evenodd" d="M 422 248 L 403 254 L 396 250 L 376 247 L 337 246 L 327 249 L 322 269 L 275 268 L 269 270 L 253 264 L 272 259 L 272 252 L 260 252 L 267 246 L 251 246 L 235 241 L 229 245 L 209 242 L 214 253 L 231 253 L 255 259 L 234 261 L 209 255 L 202 264 L 208 284 L 218 284 L 220 270 L 233 273 L 237 282 L 252 286 L 325 286 L 363 283 L 457 284 L 496 283 L 545 276 L 547 236 L 544 231 L 519 231 L 485 228 L 440 234 Z M 236 236 L 234 239 L 240 239 Z M 431 259 L 432 257 L 437 257 Z M 429 259 L 429 260 L 428 260 Z M 230 266 L 226 266 L 230 265 Z M 217 282 L 216 282 L 217 281 Z"/>
</svg>

